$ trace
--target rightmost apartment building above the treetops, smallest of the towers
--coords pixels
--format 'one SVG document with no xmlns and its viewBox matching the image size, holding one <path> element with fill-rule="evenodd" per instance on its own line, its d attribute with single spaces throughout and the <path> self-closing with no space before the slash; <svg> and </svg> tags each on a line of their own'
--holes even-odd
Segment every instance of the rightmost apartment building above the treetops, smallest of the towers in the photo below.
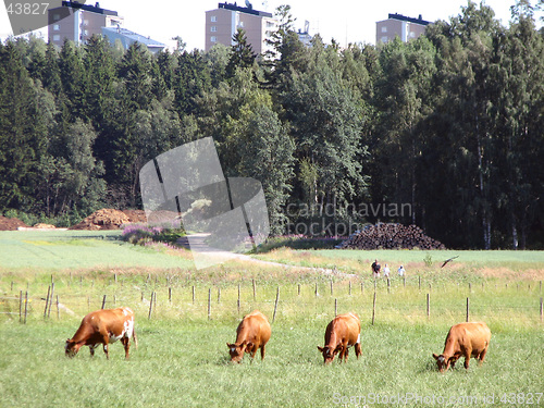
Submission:
<svg viewBox="0 0 544 408">
<path fill-rule="evenodd" d="M 390 13 L 387 20 L 375 23 L 375 44 L 392 41 L 396 36 L 404 42 L 418 38 L 429 24 L 430 22 L 424 21 L 421 14 L 418 18 L 412 18 Z"/>
</svg>

